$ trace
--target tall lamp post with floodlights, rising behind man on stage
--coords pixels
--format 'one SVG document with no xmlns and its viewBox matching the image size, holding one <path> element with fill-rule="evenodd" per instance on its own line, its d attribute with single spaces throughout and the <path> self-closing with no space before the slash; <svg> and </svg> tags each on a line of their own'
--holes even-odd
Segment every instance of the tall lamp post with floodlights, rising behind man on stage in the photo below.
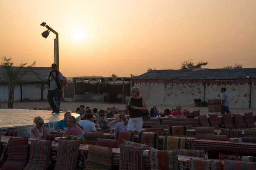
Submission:
<svg viewBox="0 0 256 170">
<path fill-rule="evenodd" d="M 59 50 L 58 50 L 58 32 L 56 32 L 54 29 L 49 27 L 46 23 L 41 23 L 40 26 L 46 27 L 48 30 L 44 31 L 41 35 L 44 38 L 47 38 L 49 36 L 50 31 L 52 31 L 55 35 L 56 38 L 54 39 L 54 63 L 57 64 L 58 70 L 59 70 Z"/>
</svg>

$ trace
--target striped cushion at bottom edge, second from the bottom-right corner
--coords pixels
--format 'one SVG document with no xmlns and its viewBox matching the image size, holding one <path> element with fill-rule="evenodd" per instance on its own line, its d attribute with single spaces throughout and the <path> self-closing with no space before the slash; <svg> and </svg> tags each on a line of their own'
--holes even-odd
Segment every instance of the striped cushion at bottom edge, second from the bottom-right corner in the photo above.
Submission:
<svg viewBox="0 0 256 170">
<path fill-rule="evenodd" d="M 221 161 L 190 158 L 189 170 L 221 170 Z"/>
</svg>

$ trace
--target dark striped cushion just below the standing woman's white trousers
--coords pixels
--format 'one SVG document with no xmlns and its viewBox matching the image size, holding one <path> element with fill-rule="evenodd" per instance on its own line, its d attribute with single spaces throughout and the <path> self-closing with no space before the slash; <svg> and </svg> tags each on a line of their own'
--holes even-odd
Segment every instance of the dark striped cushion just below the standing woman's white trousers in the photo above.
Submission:
<svg viewBox="0 0 256 170">
<path fill-rule="evenodd" d="M 158 149 L 159 134 L 140 133 L 139 143 Z"/>
</svg>

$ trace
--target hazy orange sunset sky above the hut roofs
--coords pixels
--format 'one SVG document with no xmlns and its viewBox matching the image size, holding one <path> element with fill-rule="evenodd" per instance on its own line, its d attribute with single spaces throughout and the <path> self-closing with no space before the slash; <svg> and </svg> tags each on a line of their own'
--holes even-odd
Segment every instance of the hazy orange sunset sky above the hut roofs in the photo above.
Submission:
<svg viewBox="0 0 256 170">
<path fill-rule="evenodd" d="M 66 77 L 129 77 L 187 59 L 254 68 L 255 9 L 256 0 L 0 0 L 0 57 L 50 67 L 46 22 Z"/>
</svg>

